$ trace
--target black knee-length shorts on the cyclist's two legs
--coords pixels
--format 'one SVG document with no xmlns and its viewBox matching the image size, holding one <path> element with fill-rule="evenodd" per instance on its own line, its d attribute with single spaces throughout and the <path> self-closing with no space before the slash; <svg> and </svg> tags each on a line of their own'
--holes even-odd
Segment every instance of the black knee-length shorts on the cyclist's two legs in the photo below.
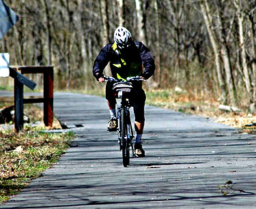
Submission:
<svg viewBox="0 0 256 209">
<path fill-rule="evenodd" d="M 115 93 L 112 89 L 113 82 L 106 82 L 106 99 L 115 99 Z M 130 93 L 129 101 L 133 107 L 135 121 L 142 123 L 145 120 L 144 107 L 145 107 L 146 95 L 142 89 L 141 84 L 133 85 L 132 92 Z"/>
</svg>

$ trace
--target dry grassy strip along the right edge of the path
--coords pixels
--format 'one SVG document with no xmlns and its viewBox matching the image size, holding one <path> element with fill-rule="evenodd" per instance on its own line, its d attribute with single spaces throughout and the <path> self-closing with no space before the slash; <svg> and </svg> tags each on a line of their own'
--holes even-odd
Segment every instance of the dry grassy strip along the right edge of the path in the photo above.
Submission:
<svg viewBox="0 0 256 209">
<path fill-rule="evenodd" d="M 223 112 L 218 109 L 218 106 L 221 104 L 218 99 L 197 97 L 196 95 L 186 93 L 186 91 L 177 93 L 171 89 L 149 90 L 146 94 L 146 103 L 148 105 L 212 118 L 217 123 L 237 127 L 243 132 L 256 132 L 255 126 L 246 127 L 248 124 L 256 123 L 255 114 L 249 114 L 246 110 L 241 112 Z"/>
</svg>

